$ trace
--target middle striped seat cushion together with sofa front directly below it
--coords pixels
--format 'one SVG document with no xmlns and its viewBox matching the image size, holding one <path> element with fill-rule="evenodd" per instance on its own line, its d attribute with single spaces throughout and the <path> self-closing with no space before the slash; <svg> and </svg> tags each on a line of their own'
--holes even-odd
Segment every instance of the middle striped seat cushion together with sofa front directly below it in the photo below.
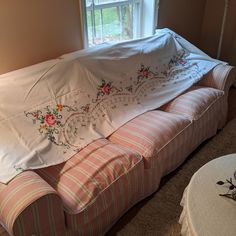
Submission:
<svg viewBox="0 0 236 236">
<path fill-rule="evenodd" d="M 144 193 L 151 194 L 161 178 L 179 166 L 192 151 L 193 125 L 184 116 L 151 111 L 131 120 L 110 136 L 144 157 Z"/>
</svg>

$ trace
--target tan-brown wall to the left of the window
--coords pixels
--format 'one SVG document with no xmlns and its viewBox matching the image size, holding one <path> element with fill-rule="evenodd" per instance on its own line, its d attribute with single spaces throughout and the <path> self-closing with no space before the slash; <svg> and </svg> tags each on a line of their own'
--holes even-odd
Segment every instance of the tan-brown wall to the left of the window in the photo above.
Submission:
<svg viewBox="0 0 236 236">
<path fill-rule="evenodd" d="M 0 1 L 0 74 L 82 47 L 79 0 Z"/>
</svg>

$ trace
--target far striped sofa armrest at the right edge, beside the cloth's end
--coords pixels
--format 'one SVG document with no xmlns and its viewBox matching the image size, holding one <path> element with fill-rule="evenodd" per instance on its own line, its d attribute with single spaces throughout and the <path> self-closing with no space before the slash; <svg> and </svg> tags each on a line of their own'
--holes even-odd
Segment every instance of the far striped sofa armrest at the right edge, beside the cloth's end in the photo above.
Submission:
<svg viewBox="0 0 236 236">
<path fill-rule="evenodd" d="M 236 68 L 229 65 L 218 65 L 198 83 L 200 86 L 220 89 L 228 93 L 235 81 Z"/>
</svg>

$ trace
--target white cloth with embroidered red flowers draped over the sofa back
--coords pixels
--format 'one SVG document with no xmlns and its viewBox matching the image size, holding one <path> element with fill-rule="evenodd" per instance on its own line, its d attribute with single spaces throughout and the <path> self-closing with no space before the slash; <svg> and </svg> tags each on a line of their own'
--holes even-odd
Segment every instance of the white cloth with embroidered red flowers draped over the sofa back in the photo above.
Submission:
<svg viewBox="0 0 236 236">
<path fill-rule="evenodd" d="M 0 76 L 0 182 L 62 163 L 220 62 L 164 29 Z"/>
</svg>

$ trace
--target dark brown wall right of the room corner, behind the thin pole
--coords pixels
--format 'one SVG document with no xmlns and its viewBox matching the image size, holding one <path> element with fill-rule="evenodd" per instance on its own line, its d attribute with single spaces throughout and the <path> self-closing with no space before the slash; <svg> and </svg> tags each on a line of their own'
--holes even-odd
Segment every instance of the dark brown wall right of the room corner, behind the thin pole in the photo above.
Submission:
<svg viewBox="0 0 236 236">
<path fill-rule="evenodd" d="M 224 15 L 223 0 L 207 0 L 202 25 L 201 48 L 212 57 L 217 56 Z M 220 59 L 236 65 L 236 1 L 230 0 L 223 35 Z"/>
</svg>

